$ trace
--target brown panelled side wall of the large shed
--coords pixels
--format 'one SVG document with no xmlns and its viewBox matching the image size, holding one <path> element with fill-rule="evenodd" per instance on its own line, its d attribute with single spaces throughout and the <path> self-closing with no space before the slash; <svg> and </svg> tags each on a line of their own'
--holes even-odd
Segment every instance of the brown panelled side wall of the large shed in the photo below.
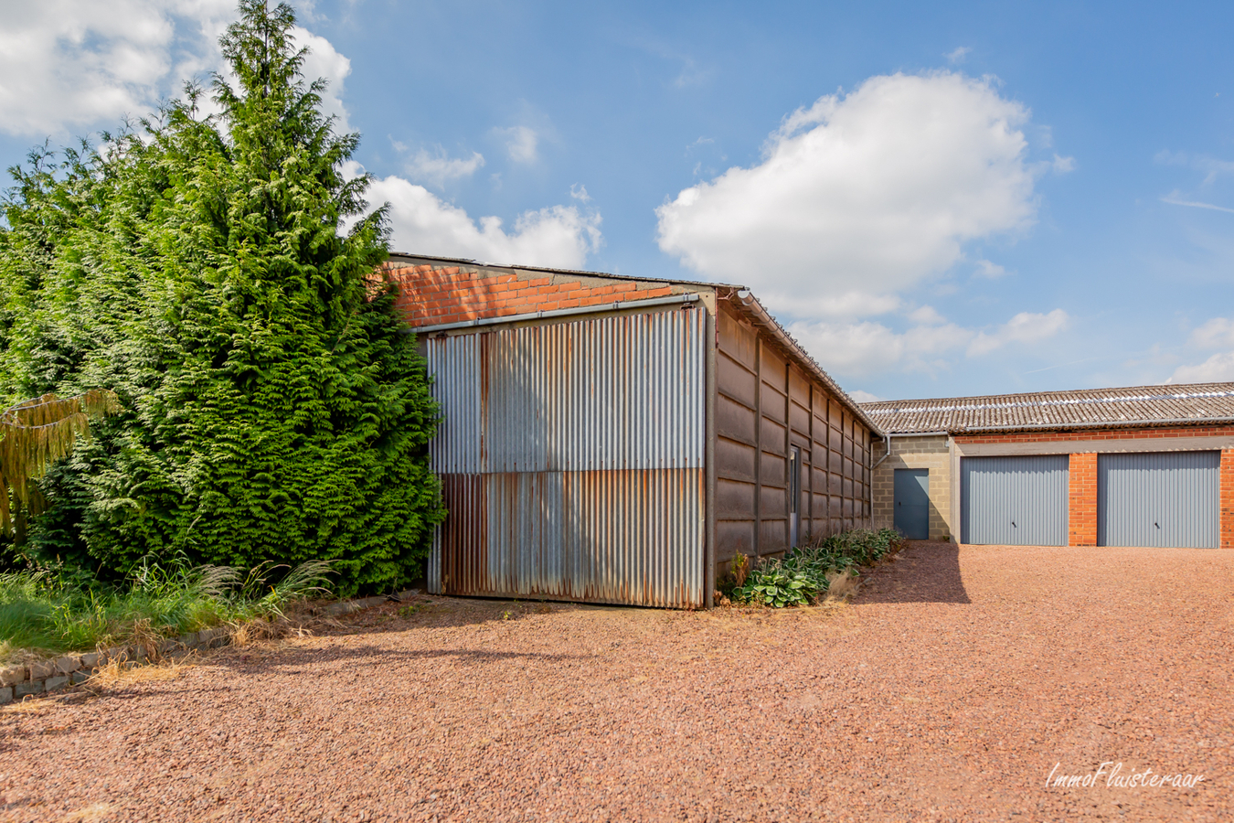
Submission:
<svg viewBox="0 0 1234 823">
<path fill-rule="evenodd" d="M 717 342 L 716 563 L 791 548 L 793 447 L 798 543 L 869 526 L 869 428 L 723 302 Z"/>
</svg>

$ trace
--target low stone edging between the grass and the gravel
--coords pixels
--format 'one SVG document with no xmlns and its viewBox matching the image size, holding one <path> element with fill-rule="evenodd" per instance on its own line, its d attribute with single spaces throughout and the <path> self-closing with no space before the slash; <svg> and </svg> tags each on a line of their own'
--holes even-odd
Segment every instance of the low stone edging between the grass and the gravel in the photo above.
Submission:
<svg viewBox="0 0 1234 823">
<path fill-rule="evenodd" d="M 418 593 L 418 589 L 407 589 L 396 595 L 341 600 L 320 610 L 313 610 L 310 613 L 339 617 L 385 602 L 401 602 Z M 232 631 L 230 626 L 215 626 L 200 632 L 190 632 L 176 638 L 168 638 L 158 644 L 153 656 L 160 658 L 173 651 L 223 647 L 231 643 Z M 0 706 L 32 695 L 42 695 L 69 686 L 80 686 L 90 679 L 90 675 L 112 660 L 146 663 L 148 659 L 151 659 L 151 655 L 147 654 L 144 647 L 133 645 L 112 647 L 110 649 L 90 651 L 89 654 L 68 654 L 53 660 L 36 660 L 28 664 L 4 666 L 0 668 Z"/>
</svg>

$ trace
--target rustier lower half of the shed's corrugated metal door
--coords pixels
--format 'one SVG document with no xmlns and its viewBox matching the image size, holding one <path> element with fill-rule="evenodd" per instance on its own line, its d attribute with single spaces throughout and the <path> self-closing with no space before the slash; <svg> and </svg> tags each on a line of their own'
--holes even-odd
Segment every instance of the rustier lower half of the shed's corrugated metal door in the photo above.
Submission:
<svg viewBox="0 0 1234 823">
<path fill-rule="evenodd" d="M 455 475 L 443 489 L 434 593 L 703 602 L 700 469 Z"/>
</svg>

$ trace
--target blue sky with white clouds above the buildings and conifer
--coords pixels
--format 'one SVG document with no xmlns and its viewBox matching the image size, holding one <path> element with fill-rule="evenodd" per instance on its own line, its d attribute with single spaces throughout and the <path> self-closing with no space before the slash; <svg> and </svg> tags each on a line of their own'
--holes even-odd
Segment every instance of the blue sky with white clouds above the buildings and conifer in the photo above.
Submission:
<svg viewBox="0 0 1234 823">
<path fill-rule="evenodd" d="M 232 15 L 4 6 L 6 165 Z M 1229 4 L 297 9 L 399 250 L 738 281 L 859 397 L 1234 380 Z"/>
</svg>

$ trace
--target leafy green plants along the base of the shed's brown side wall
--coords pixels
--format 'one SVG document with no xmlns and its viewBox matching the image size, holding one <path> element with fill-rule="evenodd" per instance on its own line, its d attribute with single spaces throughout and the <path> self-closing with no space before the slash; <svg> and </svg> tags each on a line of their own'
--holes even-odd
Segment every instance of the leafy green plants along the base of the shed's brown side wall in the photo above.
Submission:
<svg viewBox="0 0 1234 823">
<path fill-rule="evenodd" d="M 795 548 L 784 558 L 761 561 L 750 569 L 744 582 L 733 581 L 734 602 L 761 603 L 774 608 L 806 606 L 828 590 L 848 590 L 858 566 L 877 563 L 901 542 L 890 528 L 854 529 Z M 735 564 L 734 564 L 735 565 Z M 838 585 L 843 581 L 843 586 Z"/>
</svg>

